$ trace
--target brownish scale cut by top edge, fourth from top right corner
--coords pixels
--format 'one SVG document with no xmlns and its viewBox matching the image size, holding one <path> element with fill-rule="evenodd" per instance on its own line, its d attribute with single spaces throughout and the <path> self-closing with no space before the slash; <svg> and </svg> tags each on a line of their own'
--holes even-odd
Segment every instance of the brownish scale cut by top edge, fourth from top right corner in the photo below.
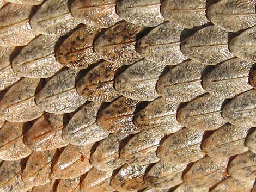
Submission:
<svg viewBox="0 0 256 192">
<path fill-rule="evenodd" d="M 71 4 L 71 14 L 88 26 L 108 28 L 121 20 L 115 6 L 115 0 L 75 0 Z"/>
</svg>

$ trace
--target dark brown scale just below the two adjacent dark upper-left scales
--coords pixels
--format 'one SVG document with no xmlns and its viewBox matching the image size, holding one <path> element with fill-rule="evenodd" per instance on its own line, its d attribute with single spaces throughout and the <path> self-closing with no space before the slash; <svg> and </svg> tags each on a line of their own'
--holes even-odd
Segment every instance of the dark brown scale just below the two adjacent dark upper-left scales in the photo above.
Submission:
<svg viewBox="0 0 256 192">
<path fill-rule="evenodd" d="M 121 64 L 103 61 L 76 84 L 78 94 L 89 101 L 111 102 L 121 94 L 114 88 L 114 76 Z"/>
</svg>

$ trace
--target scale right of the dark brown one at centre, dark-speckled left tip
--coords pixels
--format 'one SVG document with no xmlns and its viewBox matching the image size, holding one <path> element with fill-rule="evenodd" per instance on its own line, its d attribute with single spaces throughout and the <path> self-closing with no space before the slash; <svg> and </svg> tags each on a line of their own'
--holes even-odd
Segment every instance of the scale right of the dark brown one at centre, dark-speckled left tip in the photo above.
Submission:
<svg viewBox="0 0 256 192">
<path fill-rule="evenodd" d="M 136 113 L 133 122 L 138 129 L 150 133 L 174 133 L 182 128 L 176 120 L 178 107 L 179 103 L 160 97 Z"/>
</svg>

